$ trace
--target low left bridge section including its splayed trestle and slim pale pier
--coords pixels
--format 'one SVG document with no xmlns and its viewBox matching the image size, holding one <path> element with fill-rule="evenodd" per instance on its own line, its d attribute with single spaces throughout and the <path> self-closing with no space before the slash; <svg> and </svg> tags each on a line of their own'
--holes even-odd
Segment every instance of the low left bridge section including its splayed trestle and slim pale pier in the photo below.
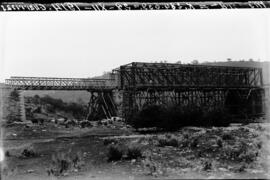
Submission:
<svg viewBox="0 0 270 180">
<path fill-rule="evenodd" d="M 56 77 L 21 77 L 12 76 L 5 80 L 5 84 L 16 90 L 66 90 L 88 91 L 90 99 L 86 119 L 95 119 L 100 112 L 103 117 L 116 116 L 116 106 L 112 93 L 116 88 L 113 79 L 91 78 L 56 78 Z M 20 96 L 22 119 L 25 119 L 24 101 Z"/>
</svg>

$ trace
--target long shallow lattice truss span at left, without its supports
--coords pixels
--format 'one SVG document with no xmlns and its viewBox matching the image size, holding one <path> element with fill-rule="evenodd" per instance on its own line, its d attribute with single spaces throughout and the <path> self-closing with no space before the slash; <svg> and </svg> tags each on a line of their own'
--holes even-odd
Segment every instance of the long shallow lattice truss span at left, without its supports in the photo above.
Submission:
<svg viewBox="0 0 270 180">
<path fill-rule="evenodd" d="M 12 76 L 5 84 L 17 90 L 97 90 L 115 88 L 113 79 L 18 77 Z"/>
</svg>

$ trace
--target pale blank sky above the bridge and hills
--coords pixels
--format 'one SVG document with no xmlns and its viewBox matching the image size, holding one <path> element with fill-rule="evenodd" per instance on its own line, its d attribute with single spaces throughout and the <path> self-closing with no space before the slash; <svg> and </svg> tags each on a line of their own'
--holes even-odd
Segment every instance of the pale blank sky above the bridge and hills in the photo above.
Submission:
<svg viewBox="0 0 270 180">
<path fill-rule="evenodd" d="M 0 13 L 0 82 L 130 62 L 269 61 L 269 51 L 269 9 Z"/>
</svg>

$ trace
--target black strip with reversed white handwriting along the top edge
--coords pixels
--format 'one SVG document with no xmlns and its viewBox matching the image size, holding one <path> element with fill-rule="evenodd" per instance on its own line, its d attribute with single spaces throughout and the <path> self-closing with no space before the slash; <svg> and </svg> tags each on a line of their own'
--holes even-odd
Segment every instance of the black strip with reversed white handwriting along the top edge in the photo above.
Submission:
<svg viewBox="0 0 270 180">
<path fill-rule="evenodd" d="M 0 11 L 128 11 L 191 9 L 258 9 L 270 8 L 270 1 L 193 1 L 193 2 L 2 2 Z"/>
</svg>

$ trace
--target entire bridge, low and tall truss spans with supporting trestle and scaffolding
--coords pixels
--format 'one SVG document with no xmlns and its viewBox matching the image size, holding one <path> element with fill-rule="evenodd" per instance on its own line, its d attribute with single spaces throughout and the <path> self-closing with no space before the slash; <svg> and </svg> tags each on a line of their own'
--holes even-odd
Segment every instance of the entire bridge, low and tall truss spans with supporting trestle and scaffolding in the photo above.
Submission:
<svg viewBox="0 0 270 180">
<path fill-rule="evenodd" d="M 114 69 L 110 79 L 13 76 L 5 84 L 17 90 L 89 91 L 87 119 L 99 112 L 115 116 L 115 91 L 122 95 L 121 115 L 127 120 L 153 104 L 221 107 L 238 115 L 264 113 L 261 68 L 133 62 Z"/>
</svg>

